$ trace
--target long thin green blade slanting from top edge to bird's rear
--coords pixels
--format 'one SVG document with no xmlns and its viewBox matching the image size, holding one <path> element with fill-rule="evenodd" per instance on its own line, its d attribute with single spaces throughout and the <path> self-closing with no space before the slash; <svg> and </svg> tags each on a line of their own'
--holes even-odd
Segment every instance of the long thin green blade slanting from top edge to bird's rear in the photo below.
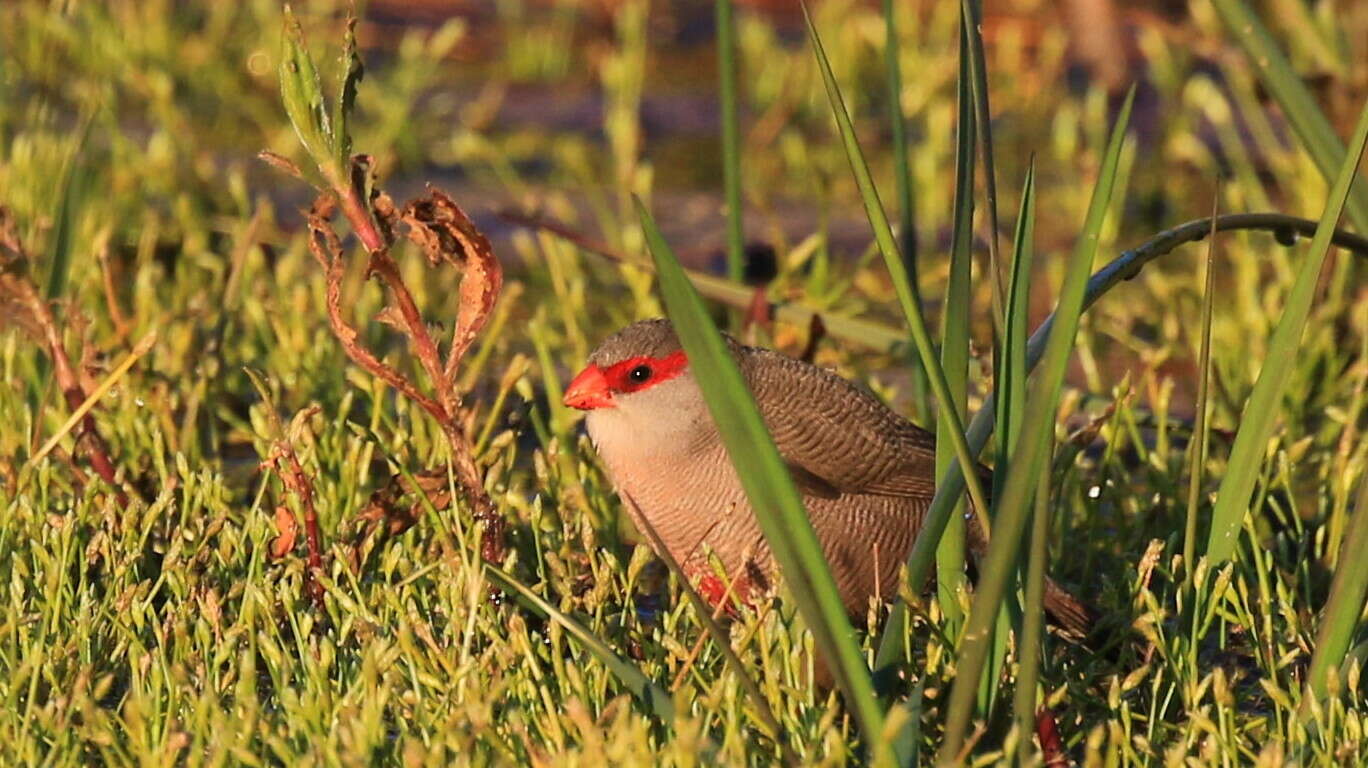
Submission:
<svg viewBox="0 0 1368 768">
<path fill-rule="evenodd" d="M 888 274 L 893 281 L 893 290 L 897 293 L 897 301 L 903 308 L 903 315 L 907 316 L 907 323 L 912 333 L 912 342 L 917 346 L 917 353 L 921 356 L 922 367 L 930 381 L 932 394 L 936 396 L 940 418 L 951 426 L 948 434 L 955 446 L 955 456 L 959 459 L 960 467 L 966 468 L 966 471 L 962 471 L 960 475 L 967 483 L 970 500 L 973 500 L 975 511 L 981 515 L 984 528 L 988 530 L 988 507 L 985 504 L 984 489 L 974 472 L 973 455 L 969 450 L 969 444 L 964 441 L 963 420 L 959 418 L 959 413 L 955 412 L 955 398 L 951 397 L 949 385 L 945 382 L 945 371 L 941 370 L 940 363 L 936 360 L 936 349 L 932 346 L 932 338 L 926 330 L 926 320 L 922 318 L 922 309 L 917 304 L 917 296 L 912 293 L 911 283 L 908 282 L 907 268 L 903 266 L 903 259 L 897 252 L 897 244 L 893 242 L 893 231 L 888 226 L 888 216 L 884 214 L 884 204 L 878 199 L 878 190 L 874 188 L 874 179 L 869 172 L 869 166 L 865 163 L 865 153 L 859 146 L 859 141 L 855 138 L 855 126 L 851 123 L 850 114 L 845 111 L 845 101 L 841 99 L 840 88 L 836 85 L 836 75 L 832 73 L 832 64 L 826 59 L 826 52 L 822 48 L 822 40 L 817 34 L 817 27 L 813 25 L 813 16 L 807 11 L 807 4 L 803 4 L 803 19 L 807 22 L 807 36 L 813 44 L 813 55 L 817 56 L 818 68 L 822 71 L 822 82 L 826 85 L 826 97 L 832 103 L 832 114 L 834 115 L 836 125 L 840 129 L 841 142 L 845 145 L 845 157 L 850 160 L 855 182 L 859 185 L 860 199 L 865 203 L 865 215 L 869 218 L 870 229 L 874 230 L 874 242 L 878 245 L 878 252 L 884 257 L 884 264 L 886 266 Z"/>
</svg>

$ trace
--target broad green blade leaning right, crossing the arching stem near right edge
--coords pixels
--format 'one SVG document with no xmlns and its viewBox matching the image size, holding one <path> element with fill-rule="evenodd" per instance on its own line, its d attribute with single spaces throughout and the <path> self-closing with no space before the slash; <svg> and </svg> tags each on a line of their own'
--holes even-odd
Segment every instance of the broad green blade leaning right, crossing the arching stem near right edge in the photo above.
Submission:
<svg viewBox="0 0 1368 768">
<path fill-rule="evenodd" d="M 1339 167 L 1339 174 L 1326 201 L 1326 211 L 1320 215 L 1316 234 L 1311 240 L 1311 253 L 1297 271 L 1297 282 L 1293 283 L 1291 293 L 1287 296 L 1287 307 L 1268 342 L 1268 357 L 1264 360 L 1254 389 L 1245 402 L 1239 431 L 1235 433 L 1235 445 L 1230 449 L 1226 476 L 1220 481 L 1216 507 L 1212 511 L 1211 534 L 1207 538 L 1207 557 L 1211 559 L 1212 565 L 1220 565 L 1230 560 L 1235 552 L 1239 528 L 1244 524 L 1245 512 L 1249 511 L 1249 497 L 1254 490 L 1259 468 L 1264 461 L 1268 437 L 1272 434 L 1274 418 L 1282 409 L 1282 397 L 1294 368 L 1293 363 L 1297 360 L 1301 333 L 1306 326 L 1306 316 L 1311 313 L 1311 303 L 1316 297 L 1320 267 L 1326 263 L 1330 238 L 1339 222 L 1341 212 L 1343 212 L 1349 189 L 1354 177 L 1358 175 L 1358 159 L 1363 156 L 1365 141 L 1368 141 L 1368 103 L 1358 114 L 1358 125 L 1349 142 L 1349 156 Z"/>
</svg>

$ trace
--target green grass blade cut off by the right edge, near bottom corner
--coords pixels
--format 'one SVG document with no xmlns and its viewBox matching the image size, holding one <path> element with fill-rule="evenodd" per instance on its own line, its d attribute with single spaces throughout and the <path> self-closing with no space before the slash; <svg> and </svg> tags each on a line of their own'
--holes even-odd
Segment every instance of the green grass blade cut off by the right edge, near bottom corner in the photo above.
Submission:
<svg viewBox="0 0 1368 768">
<path fill-rule="evenodd" d="M 1330 671 L 1341 665 L 1353 643 L 1364 612 L 1364 598 L 1368 597 L 1368 568 L 1360 560 L 1364 552 L 1368 552 L 1368 476 L 1358 481 L 1358 502 L 1330 585 L 1326 615 L 1316 632 L 1316 652 L 1306 672 L 1302 715 L 1309 712 L 1313 701 L 1326 698 Z"/>
</svg>

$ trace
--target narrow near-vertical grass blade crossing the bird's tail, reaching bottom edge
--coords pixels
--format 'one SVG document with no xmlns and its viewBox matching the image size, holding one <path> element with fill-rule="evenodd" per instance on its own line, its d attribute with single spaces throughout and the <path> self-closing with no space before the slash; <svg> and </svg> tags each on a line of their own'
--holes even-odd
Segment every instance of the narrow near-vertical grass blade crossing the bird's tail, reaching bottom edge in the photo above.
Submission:
<svg viewBox="0 0 1368 768">
<path fill-rule="evenodd" d="M 1016 763 L 1030 765 L 1030 735 L 1036 730 L 1036 683 L 1040 679 L 1041 635 L 1045 630 L 1045 557 L 1049 538 L 1049 455 L 1036 479 L 1036 509 L 1031 512 L 1030 553 L 1026 559 L 1026 604 L 1022 605 L 1022 632 L 1016 650 L 1016 691 L 1012 701 L 1016 721 Z"/>
</svg>

